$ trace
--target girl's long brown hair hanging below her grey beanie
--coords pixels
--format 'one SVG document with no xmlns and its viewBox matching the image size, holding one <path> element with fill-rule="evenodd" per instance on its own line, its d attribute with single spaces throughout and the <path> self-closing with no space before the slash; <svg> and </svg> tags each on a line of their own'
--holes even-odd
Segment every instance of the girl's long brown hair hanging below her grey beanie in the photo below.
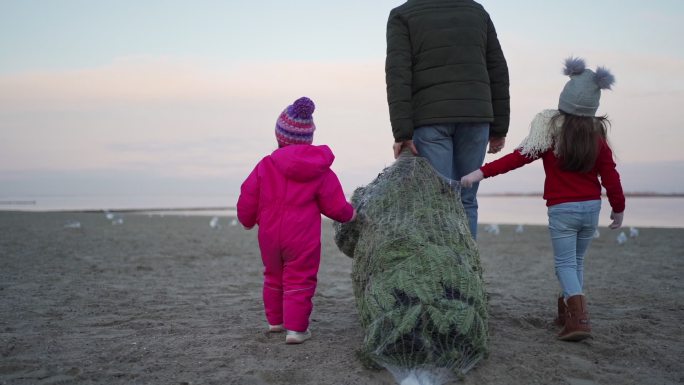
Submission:
<svg viewBox="0 0 684 385">
<path fill-rule="evenodd" d="M 598 158 L 600 139 L 607 139 L 608 117 L 577 116 L 560 111 L 553 118 L 563 118 L 563 124 L 556 140 L 560 168 L 563 171 L 589 172 Z"/>
</svg>

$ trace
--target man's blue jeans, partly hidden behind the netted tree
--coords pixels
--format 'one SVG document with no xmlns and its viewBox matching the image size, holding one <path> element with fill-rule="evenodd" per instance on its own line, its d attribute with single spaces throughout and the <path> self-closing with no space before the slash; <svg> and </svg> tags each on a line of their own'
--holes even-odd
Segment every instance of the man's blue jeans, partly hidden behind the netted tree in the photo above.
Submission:
<svg viewBox="0 0 684 385">
<path fill-rule="evenodd" d="M 489 143 L 489 123 L 454 123 L 421 126 L 413 132 L 418 154 L 427 158 L 443 177 L 460 181 L 484 161 Z M 477 188 L 461 190 L 470 233 L 477 239 Z"/>
</svg>

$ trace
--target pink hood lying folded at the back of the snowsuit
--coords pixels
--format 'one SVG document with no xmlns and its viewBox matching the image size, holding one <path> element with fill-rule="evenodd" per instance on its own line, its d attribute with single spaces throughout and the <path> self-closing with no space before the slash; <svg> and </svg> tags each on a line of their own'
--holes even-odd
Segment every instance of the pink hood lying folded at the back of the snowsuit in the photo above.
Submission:
<svg viewBox="0 0 684 385">
<path fill-rule="evenodd" d="M 329 170 L 335 155 L 328 146 L 298 144 L 273 151 L 271 159 L 278 171 L 288 179 L 308 182 Z"/>
</svg>

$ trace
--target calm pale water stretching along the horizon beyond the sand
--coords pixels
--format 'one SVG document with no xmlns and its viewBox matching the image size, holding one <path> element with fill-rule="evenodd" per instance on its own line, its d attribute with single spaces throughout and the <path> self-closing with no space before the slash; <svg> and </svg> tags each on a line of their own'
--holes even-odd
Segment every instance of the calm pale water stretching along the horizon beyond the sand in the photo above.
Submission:
<svg viewBox="0 0 684 385">
<path fill-rule="evenodd" d="M 197 208 L 234 207 L 236 197 L 206 196 L 35 196 L 0 197 L 0 210 L 150 210 L 180 208 L 169 214 L 233 216 L 232 209 L 193 210 Z M 480 223 L 546 224 L 546 206 L 541 197 L 481 196 Z M 610 206 L 603 200 L 599 224 L 610 223 Z M 624 225 L 641 227 L 684 227 L 684 198 L 627 198 Z"/>
</svg>

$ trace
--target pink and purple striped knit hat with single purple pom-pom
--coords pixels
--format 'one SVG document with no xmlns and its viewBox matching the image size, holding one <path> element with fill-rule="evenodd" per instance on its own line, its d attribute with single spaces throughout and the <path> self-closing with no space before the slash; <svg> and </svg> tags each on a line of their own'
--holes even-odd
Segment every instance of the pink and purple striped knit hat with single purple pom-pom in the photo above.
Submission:
<svg viewBox="0 0 684 385">
<path fill-rule="evenodd" d="M 311 114 L 315 109 L 316 105 L 306 96 L 287 106 L 276 121 L 278 146 L 311 144 L 313 132 L 316 130 Z"/>
</svg>

